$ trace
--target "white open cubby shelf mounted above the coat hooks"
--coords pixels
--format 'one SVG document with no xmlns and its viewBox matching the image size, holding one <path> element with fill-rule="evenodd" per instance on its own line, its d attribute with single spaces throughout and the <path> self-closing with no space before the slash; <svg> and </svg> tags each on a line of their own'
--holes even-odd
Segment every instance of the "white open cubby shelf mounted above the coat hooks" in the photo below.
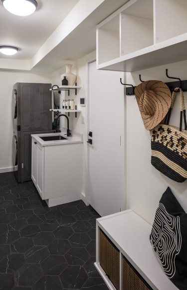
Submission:
<svg viewBox="0 0 187 290">
<path fill-rule="evenodd" d="M 136 71 L 187 59 L 187 0 L 130 0 L 97 25 L 97 68 Z"/>
</svg>

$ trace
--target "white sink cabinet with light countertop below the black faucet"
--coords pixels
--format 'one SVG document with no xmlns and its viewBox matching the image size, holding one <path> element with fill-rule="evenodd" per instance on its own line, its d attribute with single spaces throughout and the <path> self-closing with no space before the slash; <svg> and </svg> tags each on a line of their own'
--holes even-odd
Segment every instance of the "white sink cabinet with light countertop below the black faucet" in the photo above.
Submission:
<svg viewBox="0 0 187 290">
<path fill-rule="evenodd" d="M 32 135 L 31 178 L 49 207 L 78 200 L 82 193 L 81 138 L 55 142 L 39 137 L 52 134 Z"/>
</svg>

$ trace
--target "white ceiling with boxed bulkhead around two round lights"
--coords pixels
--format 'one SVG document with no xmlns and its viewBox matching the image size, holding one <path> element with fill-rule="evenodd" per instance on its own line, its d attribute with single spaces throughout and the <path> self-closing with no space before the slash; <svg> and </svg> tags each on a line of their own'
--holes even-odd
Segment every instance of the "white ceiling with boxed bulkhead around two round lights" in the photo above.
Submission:
<svg viewBox="0 0 187 290">
<path fill-rule="evenodd" d="M 0 53 L 0 69 L 20 69 L 23 63 L 29 63 L 29 68 L 25 68 L 27 70 L 52 72 L 67 63 L 67 60 L 74 61 L 94 51 L 96 24 L 127 1 L 37 0 L 37 9 L 29 16 L 11 14 L 0 1 L 0 45 L 13 45 L 19 49 L 11 56 Z M 82 15 L 84 12 L 85 15 Z M 65 34 L 66 26 L 62 24 L 66 16 L 70 19 L 71 15 L 72 23 L 76 22 L 76 17 L 82 19 Z M 70 22 L 64 23 L 68 23 L 68 31 Z M 60 31 L 62 27 L 63 31 Z M 62 37 L 63 33 L 65 36 Z M 60 35 L 59 41 L 57 35 Z"/>
</svg>

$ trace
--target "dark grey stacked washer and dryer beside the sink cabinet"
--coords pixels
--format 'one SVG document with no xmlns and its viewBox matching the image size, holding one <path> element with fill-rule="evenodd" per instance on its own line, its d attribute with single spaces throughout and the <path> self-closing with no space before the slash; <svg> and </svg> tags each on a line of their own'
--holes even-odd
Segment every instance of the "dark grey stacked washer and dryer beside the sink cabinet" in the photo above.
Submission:
<svg viewBox="0 0 187 290">
<path fill-rule="evenodd" d="M 18 182 L 31 180 L 31 134 L 51 133 L 51 83 L 17 82 L 12 90 L 13 166 Z"/>
</svg>

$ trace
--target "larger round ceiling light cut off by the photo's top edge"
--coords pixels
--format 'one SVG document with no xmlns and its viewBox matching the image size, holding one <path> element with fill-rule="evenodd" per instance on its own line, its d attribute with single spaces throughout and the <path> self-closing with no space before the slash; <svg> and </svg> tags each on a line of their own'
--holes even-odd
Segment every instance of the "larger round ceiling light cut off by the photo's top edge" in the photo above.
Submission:
<svg viewBox="0 0 187 290">
<path fill-rule="evenodd" d="M 37 7 L 35 0 L 1 0 L 4 8 L 9 12 L 19 15 L 27 16 L 32 14 Z"/>
</svg>

